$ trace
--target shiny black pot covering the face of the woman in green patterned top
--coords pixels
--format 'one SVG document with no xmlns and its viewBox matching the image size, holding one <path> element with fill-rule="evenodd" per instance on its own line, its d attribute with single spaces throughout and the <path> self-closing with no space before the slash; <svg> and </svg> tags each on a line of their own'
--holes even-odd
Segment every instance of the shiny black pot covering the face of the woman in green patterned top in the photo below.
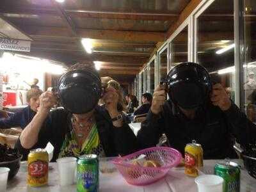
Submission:
<svg viewBox="0 0 256 192">
<path fill-rule="evenodd" d="M 57 86 L 63 108 L 74 114 L 92 111 L 102 95 L 99 74 L 88 70 L 74 69 L 60 77 Z"/>
</svg>

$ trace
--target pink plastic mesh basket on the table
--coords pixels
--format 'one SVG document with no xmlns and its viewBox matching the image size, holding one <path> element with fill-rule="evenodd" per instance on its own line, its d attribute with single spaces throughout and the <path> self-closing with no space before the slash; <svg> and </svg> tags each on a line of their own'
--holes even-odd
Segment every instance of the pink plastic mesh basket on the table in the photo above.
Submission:
<svg viewBox="0 0 256 192">
<path fill-rule="evenodd" d="M 161 166 L 145 167 L 131 163 L 132 159 L 137 159 L 142 154 L 145 155 L 145 159 L 157 161 Z M 128 156 L 116 157 L 113 164 L 129 184 L 144 186 L 164 177 L 170 168 L 180 163 L 181 159 L 182 155 L 174 148 L 151 147 Z"/>
</svg>

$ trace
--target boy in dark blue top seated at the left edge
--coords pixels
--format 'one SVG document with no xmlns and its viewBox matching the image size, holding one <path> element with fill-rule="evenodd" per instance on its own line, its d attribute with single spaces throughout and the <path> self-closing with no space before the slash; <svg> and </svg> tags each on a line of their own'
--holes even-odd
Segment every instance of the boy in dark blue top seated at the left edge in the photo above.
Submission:
<svg viewBox="0 0 256 192">
<path fill-rule="evenodd" d="M 21 127 L 24 129 L 36 115 L 39 108 L 39 96 L 42 93 L 42 90 L 38 88 L 31 88 L 31 90 L 28 90 L 26 98 L 28 106 L 8 118 L 1 118 L 0 129 L 8 129 L 11 127 Z"/>
</svg>

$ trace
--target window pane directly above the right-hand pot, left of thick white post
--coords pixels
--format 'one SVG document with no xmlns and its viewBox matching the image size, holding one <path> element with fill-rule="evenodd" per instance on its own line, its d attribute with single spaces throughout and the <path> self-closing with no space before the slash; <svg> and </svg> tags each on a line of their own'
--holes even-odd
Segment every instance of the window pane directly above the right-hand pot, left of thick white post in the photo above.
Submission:
<svg viewBox="0 0 256 192">
<path fill-rule="evenodd" d="M 171 68 L 188 61 L 188 26 L 173 38 L 170 49 Z"/>
</svg>

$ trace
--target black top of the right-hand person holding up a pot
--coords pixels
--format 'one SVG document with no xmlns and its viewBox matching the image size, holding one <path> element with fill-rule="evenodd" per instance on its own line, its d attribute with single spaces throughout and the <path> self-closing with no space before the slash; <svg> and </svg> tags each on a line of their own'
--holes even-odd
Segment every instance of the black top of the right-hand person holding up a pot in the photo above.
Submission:
<svg viewBox="0 0 256 192">
<path fill-rule="evenodd" d="M 182 154 L 186 144 L 196 140 L 204 149 L 204 159 L 223 159 L 236 157 L 232 148 L 234 138 L 243 146 L 255 142 L 256 126 L 233 103 L 230 109 L 221 111 L 209 102 L 196 111 L 195 119 L 189 120 L 168 100 L 160 115 L 150 111 L 141 124 L 140 146 L 155 146 L 163 133 L 170 146 Z"/>
</svg>

